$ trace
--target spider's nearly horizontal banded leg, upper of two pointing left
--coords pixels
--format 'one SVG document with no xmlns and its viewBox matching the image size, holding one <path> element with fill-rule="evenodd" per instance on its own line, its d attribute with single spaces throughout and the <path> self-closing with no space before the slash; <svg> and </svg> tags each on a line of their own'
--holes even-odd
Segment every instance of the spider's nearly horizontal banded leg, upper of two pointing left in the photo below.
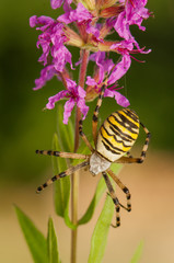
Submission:
<svg viewBox="0 0 174 263">
<path fill-rule="evenodd" d="M 36 153 L 44 156 L 55 156 L 61 158 L 71 158 L 71 159 L 88 159 L 89 156 L 73 152 L 63 152 L 63 151 L 53 151 L 53 150 L 36 150 Z"/>
</svg>

